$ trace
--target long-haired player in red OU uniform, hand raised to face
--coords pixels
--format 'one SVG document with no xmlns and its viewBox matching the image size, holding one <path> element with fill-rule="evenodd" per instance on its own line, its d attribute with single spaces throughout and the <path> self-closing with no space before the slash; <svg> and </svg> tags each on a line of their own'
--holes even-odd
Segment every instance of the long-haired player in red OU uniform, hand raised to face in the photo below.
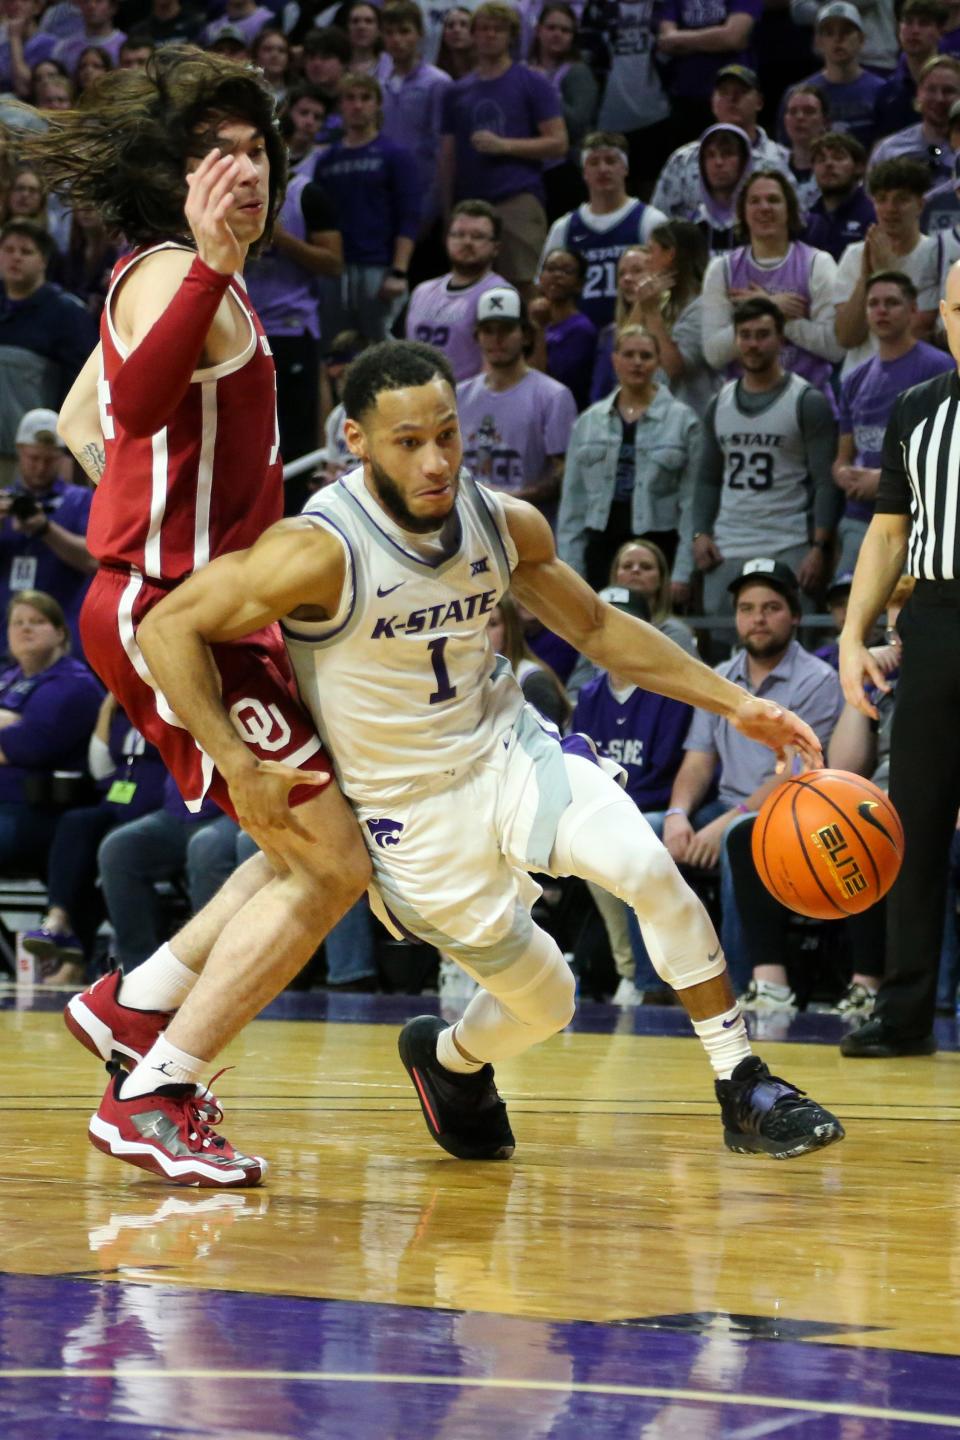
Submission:
<svg viewBox="0 0 960 1440">
<path fill-rule="evenodd" d="M 32 163 L 135 245 L 60 413 L 98 481 L 83 649 L 187 805 L 213 796 L 262 850 L 170 945 L 75 996 L 65 1018 L 95 1054 L 132 1064 L 91 1120 L 98 1149 L 177 1184 L 256 1185 L 266 1162 L 212 1129 L 201 1073 L 357 900 L 368 861 L 279 632 L 216 655 L 246 742 L 237 773 L 219 775 L 153 684 L 137 628 L 180 580 L 282 516 L 273 361 L 240 271 L 282 199 L 284 150 L 256 73 L 191 48 L 157 52 L 145 73 L 117 71 L 83 109 L 49 118 Z"/>
</svg>

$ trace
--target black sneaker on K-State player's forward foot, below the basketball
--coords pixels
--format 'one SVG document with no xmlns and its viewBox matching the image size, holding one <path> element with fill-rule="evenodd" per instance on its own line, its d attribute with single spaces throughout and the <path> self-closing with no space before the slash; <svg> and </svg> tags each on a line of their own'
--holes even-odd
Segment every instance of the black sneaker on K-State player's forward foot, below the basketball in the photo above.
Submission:
<svg viewBox="0 0 960 1440">
<path fill-rule="evenodd" d="M 738 1155 L 794 1155 L 843 1139 L 843 1126 L 803 1090 L 771 1076 L 759 1056 L 747 1056 L 730 1080 L 717 1080 L 724 1145 Z"/>
</svg>

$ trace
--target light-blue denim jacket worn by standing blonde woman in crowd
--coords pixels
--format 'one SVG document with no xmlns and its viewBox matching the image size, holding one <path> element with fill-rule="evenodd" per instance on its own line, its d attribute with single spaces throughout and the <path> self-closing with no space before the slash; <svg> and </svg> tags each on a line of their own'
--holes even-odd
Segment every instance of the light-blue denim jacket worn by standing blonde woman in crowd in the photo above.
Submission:
<svg viewBox="0 0 960 1440">
<path fill-rule="evenodd" d="M 560 557 L 584 573 L 586 531 L 606 530 L 616 487 L 623 431 L 616 413 L 619 389 L 579 416 L 563 474 L 557 549 Z M 692 494 L 699 469 L 699 420 L 665 384 L 638 420 L 633 484 L 633 534 L 678 530 L 674 579 L 694 573 Z"/>
</svg>

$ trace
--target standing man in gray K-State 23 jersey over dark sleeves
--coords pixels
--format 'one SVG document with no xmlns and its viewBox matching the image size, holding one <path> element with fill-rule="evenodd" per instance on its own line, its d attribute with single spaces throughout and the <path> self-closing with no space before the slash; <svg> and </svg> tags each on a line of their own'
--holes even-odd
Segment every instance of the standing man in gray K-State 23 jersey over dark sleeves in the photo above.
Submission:
<svg viewBox="0 0 960 1440">
<path fill-rule="evenodd" d="M 704 572 L 704 612 L 727 608 L 744 560 L 783 560 L 812 595 L 826 580 L 839 517 L 832 464 L 836 420 L 829 402 L 780 364 L 783 314 L 756 297 L 734 310 L 743 379 L 707 406 L 694 484 L 694 562 Z"/>
</svg>

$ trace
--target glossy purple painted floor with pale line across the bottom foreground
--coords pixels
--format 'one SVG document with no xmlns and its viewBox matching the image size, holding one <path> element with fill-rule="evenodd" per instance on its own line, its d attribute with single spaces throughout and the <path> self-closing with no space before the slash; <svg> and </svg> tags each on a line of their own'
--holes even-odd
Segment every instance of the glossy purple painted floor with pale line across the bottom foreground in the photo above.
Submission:
<svg viewBox="0 0 960 1440">
<path fill-rule="evenodd" d="M 957 1433 L 910 1417 L 957 1414 L 959 1358 L 744 1339 L 723 1316 L 691 1332 L 3 1274 L 0 1316 L 0 1433 L 9 1440 L 751 1440 L 780 1433 L 907 1440 Z M 108 1374 L 6 1378 L 19 1368 Z M 124 1369 L 140 1374 L 125 1378 Z M 164 1369 L 206 1374 L 166 1377 Z M 332 1378 L 344 1374 L 371 1378 Z M 449 1384 L 471 1378 L 534 1388 Z M 571 1385 L 594 1392 L 571 1392 Z M 659 1394 L 617 1394 L 625 1385 Z M 802 1408 L 764 1404 L 783 1398 Z M 825 1404 L 846 1413 L 825 1414 Z M 859 1407 L 881 1414 L 859 1416 Z"/>
</svg>

